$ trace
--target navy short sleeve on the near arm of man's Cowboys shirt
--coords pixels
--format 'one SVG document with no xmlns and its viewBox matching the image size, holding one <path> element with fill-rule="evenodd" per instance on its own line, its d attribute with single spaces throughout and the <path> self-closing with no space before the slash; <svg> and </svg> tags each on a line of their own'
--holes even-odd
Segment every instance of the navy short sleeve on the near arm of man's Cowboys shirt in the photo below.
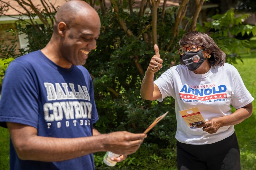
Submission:
<svg viewBox="0 0 256 170">
<path fill-rule="evenodd" d="M 38 128 L 39 100 L 35 81 L 29 64 L 16 60 L 10 63 L 2 83 L 0 122 L 15 122 Z"/>
</svg>

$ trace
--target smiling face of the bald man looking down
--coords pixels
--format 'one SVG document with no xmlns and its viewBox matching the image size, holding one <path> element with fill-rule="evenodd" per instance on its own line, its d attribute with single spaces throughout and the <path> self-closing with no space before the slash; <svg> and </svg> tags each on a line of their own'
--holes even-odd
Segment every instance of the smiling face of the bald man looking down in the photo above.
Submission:
<svg viewBox="0 0 256 170">
<path fill-rule="evenodd" d="M 73 65 L 84 65 L 88 53 L 96 48 L 100 19 L 95 14 L 81 16 L 67 27 L 65 36 L 61 38 L 61 57 Z"/>
</svg>

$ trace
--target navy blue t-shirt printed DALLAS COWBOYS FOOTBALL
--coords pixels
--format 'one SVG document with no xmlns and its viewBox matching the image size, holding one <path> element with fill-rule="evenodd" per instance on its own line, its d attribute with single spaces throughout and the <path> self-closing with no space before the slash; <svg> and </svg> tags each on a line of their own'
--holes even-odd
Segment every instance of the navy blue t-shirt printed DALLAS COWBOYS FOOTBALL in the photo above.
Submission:
<svg viewBox="0 0 256 170">
<path fill-rule="evenodd" d="M 12 61 L 2 83 L 0 123 L 33 126 L 38 136 L 92 136 L 98 120 L 93 83 L 83 66 L 61 68 L 43 53 Z M 83 145 L 83 144 L 81 144 Z M 20 160 L 10 140 L 10 169 L 95 169 L 93 154 L 60 162 Z"/>
</svg>

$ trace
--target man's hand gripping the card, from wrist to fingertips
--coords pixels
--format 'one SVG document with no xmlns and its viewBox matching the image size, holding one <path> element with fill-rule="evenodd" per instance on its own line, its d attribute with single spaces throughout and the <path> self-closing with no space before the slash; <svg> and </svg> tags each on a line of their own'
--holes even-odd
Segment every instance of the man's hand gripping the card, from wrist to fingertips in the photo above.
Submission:
<svg viewBox="0 0 256 170">
<path fill-rule="evenodd" d="M 144 133 L 113 132 L 107 134 L 104 148 L 119 155 L 129 155 L 136 152 L 145 137 Z M 121 159 L 121 158 L 120 158 Z"/>
</svg>

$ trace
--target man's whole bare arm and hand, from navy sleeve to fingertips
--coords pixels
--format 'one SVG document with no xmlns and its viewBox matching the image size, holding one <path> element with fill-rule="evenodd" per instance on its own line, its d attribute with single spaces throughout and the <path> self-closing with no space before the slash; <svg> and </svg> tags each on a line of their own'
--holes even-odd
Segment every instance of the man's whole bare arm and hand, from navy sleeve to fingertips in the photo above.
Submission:
<svg viewBox="0 0 256 170">
<path fill-rule="evenodd" d="M 7 122 L 14 148 L 22 160 L 55 162 L 73 159 L 89 153 L 111 151 L 120 155 L 137 151 L 145 134 L 113 132 L 80 138 L 56 138 L 37 135 L 31 126 Z"/>
</svg>

